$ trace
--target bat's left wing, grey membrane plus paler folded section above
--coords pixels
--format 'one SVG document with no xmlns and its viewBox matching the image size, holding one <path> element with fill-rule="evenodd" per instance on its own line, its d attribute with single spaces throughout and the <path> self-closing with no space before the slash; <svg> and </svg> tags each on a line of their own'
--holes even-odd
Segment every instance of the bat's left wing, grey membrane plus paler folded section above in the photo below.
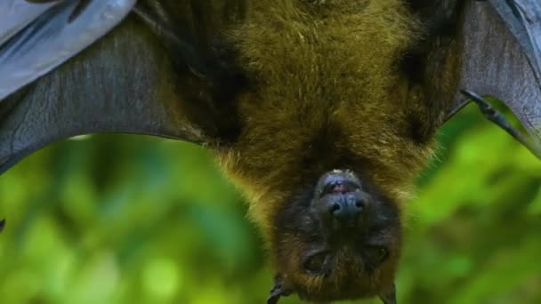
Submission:
<svg viewBox="0 0 541 304">
<path fill-rule="evenodd" d="M 200 2 L 163 2 L 171 6 L 166 9 L 162 2 L 140 2 L 147 22 L 128 14 L 134 2 L 2 1 L 0 173 L 36 149 L 81 134 L 138 133 L 197 143 L 218 132 L 221 139 L 231 135 L 234 108 L 214 103 L 230 95 L 205 81 L 225 84 L 230 92 L 229 74 L 213 67 L 229 68 L 193 58 L 213 54 L 190 48 L 174 35 L 193 33 L 168 24 L 193 15 L 185 8 Z M 168 18 L 169 12 L 178 16 Z M 195 70 L 192 63 L 202 61 L 209 69 Z"/>
</svg>

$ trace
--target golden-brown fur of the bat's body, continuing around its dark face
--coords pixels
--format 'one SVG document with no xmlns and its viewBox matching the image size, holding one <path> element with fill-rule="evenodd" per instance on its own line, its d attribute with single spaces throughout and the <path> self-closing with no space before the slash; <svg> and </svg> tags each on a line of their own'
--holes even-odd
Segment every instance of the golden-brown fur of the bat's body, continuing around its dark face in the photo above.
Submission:
<svg viewBox="0 0 541 304">
<path fill-rule="evenodd" d="M 429 88 L 436 80 L 414 84 L 400 72 L 400 60 L 425 35 L 421 20 L 400 0 L 253 0 L 245 22 L 227 35 L 255 88 L 238 101 L 238 140 L 218 158 L 248 196 L 276 268 L 295 288 L 324 291 L 330 300 L 380 292 L 392 284 L 400 233 L 392 236 L 389 261 L 373 276 L 358 280 L 353 274 L 362 271 L 344 249 L 335 275 L 323 280 L 304 273 L 303 241 L 285 233 L 277 218 L 299 189 L 343 167 L 371 180 L 400 210 L 432 154 L 440 123 L 427 102 L 450 92 L 455 73 L 442 67 L 456 62 L 447 53 L 431 54 L 444 59 L 440 70 L 430 71 L 444 84 L 437 88 Z M 280 252 L 280 244 L 290 250 Z M 337 287 L 346 278 L 357 293 Z"/>
</svg>

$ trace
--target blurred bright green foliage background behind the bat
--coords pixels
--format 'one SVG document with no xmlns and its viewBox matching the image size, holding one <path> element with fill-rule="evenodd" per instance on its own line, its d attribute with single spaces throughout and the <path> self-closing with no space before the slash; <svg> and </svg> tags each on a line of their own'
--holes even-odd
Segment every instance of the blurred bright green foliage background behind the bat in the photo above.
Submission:
<svg viewBox="0 0 541 304">
<path fill-rule="evenodd" d="M 418 184 L 400 304 L 541 303 L 541 162 L 470 106 Z M 0 218 L 2 303 L 263 303 L 271 288 L 242 196 L 187 143 L 52 145 L 0 176 Z"/>
</svg>

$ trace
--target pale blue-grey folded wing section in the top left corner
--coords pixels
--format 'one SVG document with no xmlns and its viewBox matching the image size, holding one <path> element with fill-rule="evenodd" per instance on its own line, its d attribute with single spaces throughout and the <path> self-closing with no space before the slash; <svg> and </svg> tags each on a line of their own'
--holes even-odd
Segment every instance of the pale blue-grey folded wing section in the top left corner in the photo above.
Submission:
<svg viewBox="0 0 541 304">
<path fill-rule="evenodd" d="M 7 0 L 0 4 L 0 100 L 81 52 L 135 0 Z"/>
</svg>

